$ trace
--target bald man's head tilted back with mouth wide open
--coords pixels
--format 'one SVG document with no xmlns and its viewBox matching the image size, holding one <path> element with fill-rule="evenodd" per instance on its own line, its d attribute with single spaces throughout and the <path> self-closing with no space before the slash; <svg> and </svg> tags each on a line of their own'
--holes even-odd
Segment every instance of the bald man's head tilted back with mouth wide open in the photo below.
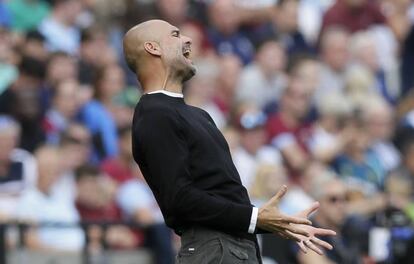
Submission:
<svg viewBox="0 0 414 264">
<path fill-rule="evenodd" d="M 195 73 L 190 60 L 191 39 L 163 20 L 148 20 L 131 28 L 124 37 L 124 55 L 140 81 L 189 79 Z M 156 74 L 154 74 L 156 73 Z M 157 82 L 157 81 L 155 81 Z"/>
</svg>

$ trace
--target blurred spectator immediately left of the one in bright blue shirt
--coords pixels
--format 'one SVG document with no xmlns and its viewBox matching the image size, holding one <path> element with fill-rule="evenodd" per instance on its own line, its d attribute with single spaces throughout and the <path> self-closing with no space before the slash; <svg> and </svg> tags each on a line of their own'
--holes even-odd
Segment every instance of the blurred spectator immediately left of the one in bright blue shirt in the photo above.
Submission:
<svg viewBox="0 0 414 264">
<path fill-rule="evenodd" d="M 59 144 L 61 133 L 74 120 L 79 110 L 78 90 L 79 84 L 76 80 L 62 81 L 53 90 L 52 106 L 43 120 L 47 143 Z"/>
</svg>

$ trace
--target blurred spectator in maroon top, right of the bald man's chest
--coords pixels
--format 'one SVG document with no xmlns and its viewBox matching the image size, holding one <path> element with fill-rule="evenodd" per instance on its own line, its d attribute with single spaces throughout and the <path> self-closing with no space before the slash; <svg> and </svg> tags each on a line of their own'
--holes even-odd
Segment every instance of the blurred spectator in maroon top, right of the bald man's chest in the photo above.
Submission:
<svg viewBox="0 0 414 264">
<path fill-rule="evenodd" d="M 298 180 L 309 158 L 306 143 L 311 135 L 311 126 L 304 120 L 311 98 L 311 93 L 301 81 L 292 80 L 283 91 L 278 112 L 267 121 L 268 138 L 280 150 L 293 181 Z"/>
</svg>

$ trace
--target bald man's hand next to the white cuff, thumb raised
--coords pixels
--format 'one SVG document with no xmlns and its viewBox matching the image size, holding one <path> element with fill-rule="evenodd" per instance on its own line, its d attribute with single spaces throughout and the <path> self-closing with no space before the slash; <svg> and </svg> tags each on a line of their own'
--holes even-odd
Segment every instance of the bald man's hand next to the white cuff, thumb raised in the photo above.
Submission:
<svg viewBox="0 0 414 264">
<path fill-rule="evenodd" d="M 271 233 L 278 234 L 282 237 L 298 241 L 298 236 L 295 235 L 308 237 L 310 234 L 304 228 L 291 224 L 312 225 L 312 222 L 307 218 L 288 216 L 279 211 L 279 202 L 285 195 L 286 191 L 287 186 L 283 185 L 275 196 L 259 208 L 257 227 Z"/>
</svg>

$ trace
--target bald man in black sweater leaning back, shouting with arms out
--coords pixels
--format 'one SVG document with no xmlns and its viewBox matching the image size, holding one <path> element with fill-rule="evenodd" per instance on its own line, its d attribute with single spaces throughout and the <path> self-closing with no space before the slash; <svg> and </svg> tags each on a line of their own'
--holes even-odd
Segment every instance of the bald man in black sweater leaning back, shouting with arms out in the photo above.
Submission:
<svg viewBox="0 0 414 264">
<path fill-rule="evenodd" d="M 183 83 L 196 72 L 191 39 L 162 20 L 124 37 L 128 66 L 144 90 L 133 119 L 133 154 L 166 224 L 181 236 L 176 263 L 261 263 L 256 233 L 276 233 L 322 254 L 331 246 L 307 219 L 279 212 L 286 186 L 261 208 L 250 203 L 229 147 L 207 112 L 184 102 Z"/>
</svg>

